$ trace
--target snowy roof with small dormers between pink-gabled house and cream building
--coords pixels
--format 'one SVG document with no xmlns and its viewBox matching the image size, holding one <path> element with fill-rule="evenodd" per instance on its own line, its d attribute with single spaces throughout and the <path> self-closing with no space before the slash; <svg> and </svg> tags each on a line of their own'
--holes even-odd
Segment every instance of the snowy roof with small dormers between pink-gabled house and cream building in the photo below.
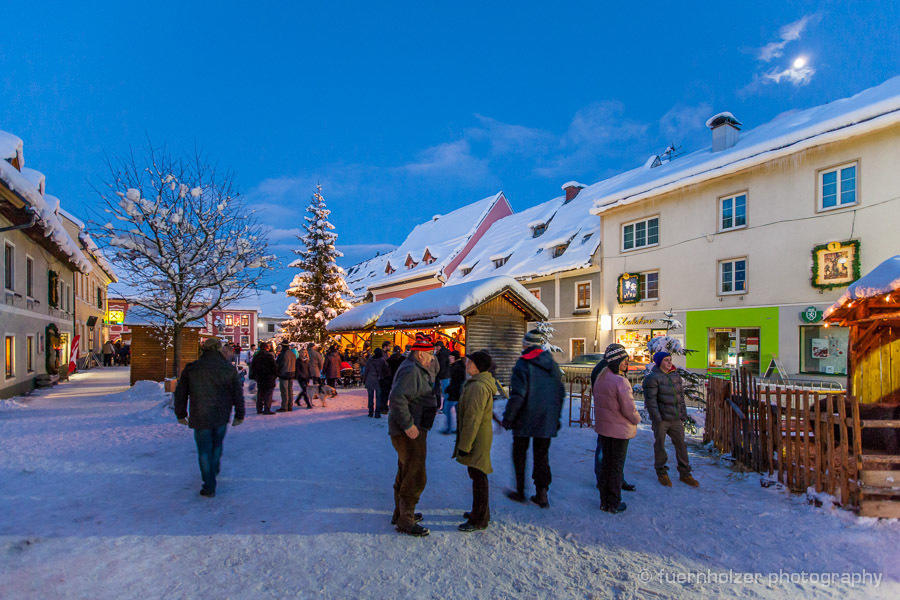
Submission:
<svg viewBox="0 0 900 600">
<path fill-rule="evenodd" d="M 466 268 L 450 275 L 449 283 L 508 275 L 516 279 L 540 277 L 591 265 L 600 244 L 600 219 L 590 213 L 593 201 L 582 190 L 566 203 L 559 196 L 521 212 L 503 217 L 466 255 Z M 533 228 L 546 224 L 534 237 Z M 565 251 L 553 256 L 553 246 L 568 243 Z M 509 256 L 497 267 L 494 259 Z"/>
</svg>

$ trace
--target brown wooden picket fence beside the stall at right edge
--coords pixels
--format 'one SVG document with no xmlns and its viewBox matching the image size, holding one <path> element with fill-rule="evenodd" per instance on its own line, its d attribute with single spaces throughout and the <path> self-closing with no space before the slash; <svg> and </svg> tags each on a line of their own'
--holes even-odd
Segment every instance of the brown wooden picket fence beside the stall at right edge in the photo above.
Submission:
<svg viewBox="0 0 900 600">
<path fill-rule="evenodd" d="M 863 449 L 873 441 L 864 429 L 900 434 L 900 420 L 878 418 L 878 408 L 863 406 L 875 418 L 861 418 L 846 392 L 764 387 L 742 369 L 731 381 L 710 380 L 703 441 L 793 492 L 814 488 L 861 516 L 898 518 L 900 472 L 890 469 L 900 468 L 900 454 L 883 438 Z"/>
</svg>

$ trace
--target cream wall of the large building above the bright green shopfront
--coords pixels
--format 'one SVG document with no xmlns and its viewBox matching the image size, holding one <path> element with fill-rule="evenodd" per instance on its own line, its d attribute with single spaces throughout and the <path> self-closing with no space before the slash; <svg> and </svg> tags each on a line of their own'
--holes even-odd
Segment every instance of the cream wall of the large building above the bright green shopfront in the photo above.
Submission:
<svg viewBox="0 0 900 600">
<path fill-rule="evenodd" d="M 858 203 L 820 212 L 819 172 L 851 161 L 858 161 Z M 797 373 L 799 314 L 808 306 L 828 306 L 844 290 L 820 291 L 810 284 L 813 247 L 859 240 L 861 274 L 896 254 L 897 164 L 900 128 L 894 126 L 603 213 L 604 313 L 660 314 L 671 308 L 700 327 L 706 317 L 692 311 L 776 307 L 785 317 L 779 318 L 777 340 L 761 343 Z M 719 233 L 719 201 L 738 192 L 747 193 L 747 227 Z M 657 215 L 658 246 L 623 252 L 622 225 Z M 747 291 L 719 295 L 718 261 L 736 257 L 747 259 Z M 659 300 L 619 305 L 619 275 L 649 270 L 659 271 Z M 700 332 L 687 327 L 689 346 L 699 344 Z M 612 331 L 606 334 L 611 341 Z M 700 352 L 689 365 L 699 365 L 706 354 L 705 344 L 695 349 Z"/>
</svg>

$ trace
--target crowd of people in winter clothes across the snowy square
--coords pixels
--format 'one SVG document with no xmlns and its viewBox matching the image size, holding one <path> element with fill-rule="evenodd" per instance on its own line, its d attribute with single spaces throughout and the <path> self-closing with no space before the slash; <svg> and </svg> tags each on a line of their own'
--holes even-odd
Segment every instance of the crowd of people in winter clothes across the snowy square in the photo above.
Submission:
<svg viewBox="0 0 900 600">
<path fill-rule="evenodd" d="M 292 347 L 283 342 L 275 354 L 264 342 L 250 358 L 249 376 L 256 382 L 256 409 L 259 414 L 271 410 L 276 381 L 281 407 L 276 412 L 293 410 L 303 400 L 312 408 L 312 400 L 337 395 L 342 356 L 336 346 L 323 354 L 317 344 Z M 231 408 L 233 426 L 244 418 L 241 377 L 229 363 L 231 352 L 216 339 L 207 340 L 199 360 L 188 365 L 175 391 L 175 414 L 179 422 L 194 429 L 204 496 L 215 495 L 222 440 Z M 415 342 L 402 351 L 385 342 L 359 356 L 361 380 L 368 394 L 368 416 L 388 415 L 388 435 L 397 453 L 394 478 L 394 511 L 391 523 L 412 536 L 426 536 L 422 513 L 416 505 L 427 481 L 426 455 L 428 432 L 439 410 L 446 415 L 443 433 L 456 434 L 453 457 L 467 469 L 472 482 L 472 508 L 463 514 L 460 531 L 478 531 L 490 522 L 489 482 L 492 472 L 491 446 L 495 421 L 512 432 L 512 462 L 515 489 L 506 496 L 513 501 L 541 508 L 550 506 L 552 482 L 550 443 L 561 428 L 566 400 L 563 374 L 545 349 L 538 330 L 529 331 L 522 341 L 522 354 L 512 370 L 508 394 L 494 376 L 495 365 L 485 350 L 462 357 L 450 351 L 440 340 L 418 333 Z M 629 440 L 637 434 L 641 422 L 625 374 L 628 353 L 620 344 L 610 344 L 603 359 L 591 373 L 594 401 L 594 428 L 597 433 L 594 474 L 603 511 L 617 514 L 626 510 L 622 490 L 635 491 L 624 479 Z M 653 356 L 653 367 L 644 377 L 644 406 L 654 435 L 654 468 L 663 486 L 671 486 L 665 444 L 668 437 L 674 448 L 679 480 L 689 486 L 699 483 L 691 474 L 685 443 L 684 421 L 687 409 L 681 377 L 665 352 Z M 299 395 L 294 398 L 293 382 Z M 507 396 L 502 418 L 494 414 L 494 399 Z M 455 413 L 455 427 L 454 416 Z M 526 463 L 532 452 L 535 492 L 526 494 Z"/>
</svg>

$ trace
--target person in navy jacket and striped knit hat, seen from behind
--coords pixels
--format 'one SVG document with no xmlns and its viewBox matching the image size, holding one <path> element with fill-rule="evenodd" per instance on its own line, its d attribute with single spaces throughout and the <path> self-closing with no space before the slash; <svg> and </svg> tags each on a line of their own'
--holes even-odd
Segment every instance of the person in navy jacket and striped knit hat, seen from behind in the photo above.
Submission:
<svg viewBox="0 0 900 600">
<path fill-rule="evenodd" d="M 522 340 L 524 352 L 513 367 L 509 401 L 503 413 L 503 427 L 513 430 L 513 466 L 516 470 L 516 490 L 507 496 L 525 502 L 525 460 L 528 445 L 534 438 L 534 469 L 532 478 L 537 490 L 531 501 L 547 508 L 550 502 L 550 438 L 560 428 L 560 415 L 566 397 L 562 371 L 541 345 L 543 336 L 532 329 Z"/>
</svg>

